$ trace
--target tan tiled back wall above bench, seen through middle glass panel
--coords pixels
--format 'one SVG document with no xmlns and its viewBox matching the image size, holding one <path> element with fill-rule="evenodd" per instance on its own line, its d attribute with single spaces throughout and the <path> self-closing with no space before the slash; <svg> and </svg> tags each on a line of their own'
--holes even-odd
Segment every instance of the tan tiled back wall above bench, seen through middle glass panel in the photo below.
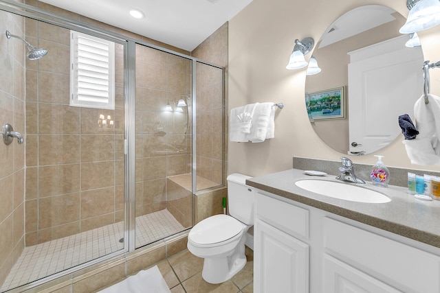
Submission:
<svg viewBox="0 0 440 293">
<path fill-rule="evenodd" d="M 167 176 L 191 172 L 191 62 L 143 45 L 135 50 L 135 193 L 140 216 L 168 208 Z M 183 112 L 165 110 L 167 103 L 175 109 L 179 99 L 188 105 Z M 190 209 L 190 200 L 185 205 Z"/>
</svg>

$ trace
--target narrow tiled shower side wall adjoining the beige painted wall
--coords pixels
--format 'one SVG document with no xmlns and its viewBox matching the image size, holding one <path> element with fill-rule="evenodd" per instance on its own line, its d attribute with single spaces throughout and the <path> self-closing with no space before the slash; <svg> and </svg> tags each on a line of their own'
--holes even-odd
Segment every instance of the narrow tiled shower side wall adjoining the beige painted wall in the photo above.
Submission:
<svg viewBox="0 0 440 293">
<path fill-rule="evenodd" d="M 191 55 L 227 68 L 228 23 L 204 40 Z M 217 68 L 197 65 L 197 176 L 218 185 L 223 183 L 226 174 L 223 154 L 228 153 L 227 143 L 224 143 L 223 150 L 223 140 L 228 141 L 225 137 L 228 129 L 225 125 L 228 117 L 225 105 L 228 103 L 223 103 L 223 91 L 227 89 L 227 85 L 223 88 L 221 74 L 222 71 Z M 227 97 L 226 92 L 224 97 Z"/>
</svg>

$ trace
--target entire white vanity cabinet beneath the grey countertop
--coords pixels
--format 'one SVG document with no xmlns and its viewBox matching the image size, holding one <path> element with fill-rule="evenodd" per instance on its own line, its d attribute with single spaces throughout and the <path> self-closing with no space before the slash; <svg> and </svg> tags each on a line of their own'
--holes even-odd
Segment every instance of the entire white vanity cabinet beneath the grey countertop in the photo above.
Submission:
<svg viewBox="0 0 440 293">
<path fill-rule="evenodd" d="M 255 208 L 254 292 L 440 292 L 438 248 L 273 194 Z"/>
</svg>

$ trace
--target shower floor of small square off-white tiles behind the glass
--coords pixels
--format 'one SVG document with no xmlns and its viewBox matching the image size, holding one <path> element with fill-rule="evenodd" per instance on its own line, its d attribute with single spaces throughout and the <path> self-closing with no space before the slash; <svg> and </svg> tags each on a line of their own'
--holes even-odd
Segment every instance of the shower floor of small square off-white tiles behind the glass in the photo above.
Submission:
<svg viewBox="0 0 440 293">
<path fill-rule="evenodd" d="M 164 209 L 136 218 L 136 247 L 183 231 L 171 213 Z M 124 224 L 102 226 L 76 235 L 25 247 L 1 286 L 4 292 L 97 259 L 124 248 Z"/>
</svg>

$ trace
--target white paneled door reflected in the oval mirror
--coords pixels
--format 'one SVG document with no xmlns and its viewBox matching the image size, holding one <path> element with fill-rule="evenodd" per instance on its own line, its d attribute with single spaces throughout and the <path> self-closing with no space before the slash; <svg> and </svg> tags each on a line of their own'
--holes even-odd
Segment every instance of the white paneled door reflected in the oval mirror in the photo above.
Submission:
<svg viewBox="0 0 440 293">
<path fill-rule="evenodd" d="M 405 47 L 405 40 L 399 37 L 350 53 L 349 152 L 369 154 L 383 148 L 401 133 L 399 115 L 413 117 L 423 91 L 423 54 L 419 47 Z"/>
</svg>

